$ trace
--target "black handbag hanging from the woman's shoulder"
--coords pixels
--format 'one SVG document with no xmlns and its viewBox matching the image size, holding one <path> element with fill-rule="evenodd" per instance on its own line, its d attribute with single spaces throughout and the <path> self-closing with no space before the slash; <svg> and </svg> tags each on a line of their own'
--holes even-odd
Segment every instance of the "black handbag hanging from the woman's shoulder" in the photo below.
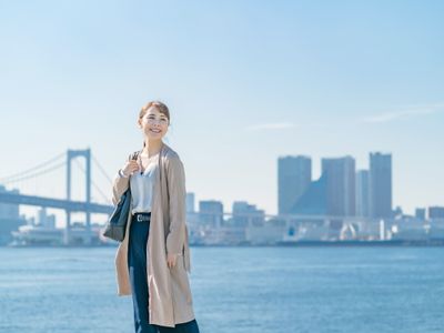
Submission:
<svg viewBox="0 0 444 333">
<path fill-rule="evenodd" d="M 133 152 L 131 160 L 137 160 L 140 151 Z M 131 176 L 131 175 L 130 175 Z M 128 214 L 130 212 L 131 204 L 131 185 L 128 184 L 127 191 L 120 196 L 118 204 L 114 206 L 114 211 L 107 222 L 107 226 L 102 233 L 103 236 L 111 240 L 122 242 L 128 223 Z"/>
</svg>

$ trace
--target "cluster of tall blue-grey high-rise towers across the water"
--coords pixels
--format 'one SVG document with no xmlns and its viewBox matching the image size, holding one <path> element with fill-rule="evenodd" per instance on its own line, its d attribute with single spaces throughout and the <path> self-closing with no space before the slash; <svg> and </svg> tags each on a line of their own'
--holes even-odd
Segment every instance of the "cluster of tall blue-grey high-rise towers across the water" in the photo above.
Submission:
<svg viewBox="0 0 444 333">
<path fill-rule="evenodd" d="M 392 154 L 370 152 L 369 160 L 366 169 L 357 170 L 352 155 L 322 158 L 321 176 L 313 179 L 310 157 L 280 158 L 279 213 L 392 218 Z"/>
</svg>

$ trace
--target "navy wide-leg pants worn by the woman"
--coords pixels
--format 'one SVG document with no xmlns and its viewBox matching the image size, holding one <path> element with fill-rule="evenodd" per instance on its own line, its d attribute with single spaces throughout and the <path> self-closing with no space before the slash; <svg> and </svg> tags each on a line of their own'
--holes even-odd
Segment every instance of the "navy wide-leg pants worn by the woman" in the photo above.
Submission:
<svg viewBox="0 0 444 333">
<path fill-rule="evenodd" d="M 147 242 L 150 233 L 150 220 L 139 222 L 133 218 L 130 225 L 128 266 L 134 306 L 135 333 L 200 333 L 195 319 L 186 323 L 175 324 L 175 327 L 159 326 L 149 322 Z"/>
</svg>

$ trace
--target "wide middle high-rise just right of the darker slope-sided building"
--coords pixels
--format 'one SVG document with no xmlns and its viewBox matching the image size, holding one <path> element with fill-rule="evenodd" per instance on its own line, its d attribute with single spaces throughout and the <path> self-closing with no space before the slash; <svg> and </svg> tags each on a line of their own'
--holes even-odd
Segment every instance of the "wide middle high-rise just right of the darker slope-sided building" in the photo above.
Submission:
<svg viewBox="0 0 444 333">
<path fill-rule="evenodd" d="M 355 162 L 352 157 L 322 159 L 326 176 L 326 206 L 329 215 L 355 215 Z"/>
</svg>

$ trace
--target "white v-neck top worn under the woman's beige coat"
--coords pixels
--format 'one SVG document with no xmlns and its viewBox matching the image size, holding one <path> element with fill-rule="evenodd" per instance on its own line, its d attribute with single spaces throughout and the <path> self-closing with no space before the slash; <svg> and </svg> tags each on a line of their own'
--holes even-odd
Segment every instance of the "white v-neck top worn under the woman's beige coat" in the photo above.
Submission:
<svg viewBox="0 0 444 333">
<path fill-rule="evenodd" d="M 141 157 L 138 157 L 139 171 L 135 171 L 130 179 L 131 196 L 132 196 L 132 214 L 141 212 L 151 212 L 152 196 L 153 196 L 153 183 L 158 172 L 159 153 L 149 159 L 149 164 L 140 174 Z M 147 164 L 147 158 L 143 158 Z"/>
</svg>

